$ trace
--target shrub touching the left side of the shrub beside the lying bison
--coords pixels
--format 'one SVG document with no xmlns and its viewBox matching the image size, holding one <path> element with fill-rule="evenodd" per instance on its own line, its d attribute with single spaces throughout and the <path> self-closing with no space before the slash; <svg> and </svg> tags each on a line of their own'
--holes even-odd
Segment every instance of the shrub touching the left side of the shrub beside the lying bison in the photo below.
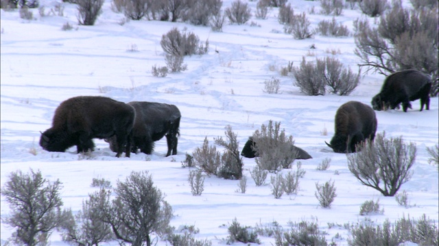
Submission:
<svg viewBox="0 0 439 246">
<path fill-rule="evenodd" d="M 204 137 L 202 148 L 196 148 L 192 152 L 195 165 L 206 172 L 207 175 L 216 175 L 221 165 L 221 154 L 215 146 L 209 146 L 209 140 Z"/>
</svg>

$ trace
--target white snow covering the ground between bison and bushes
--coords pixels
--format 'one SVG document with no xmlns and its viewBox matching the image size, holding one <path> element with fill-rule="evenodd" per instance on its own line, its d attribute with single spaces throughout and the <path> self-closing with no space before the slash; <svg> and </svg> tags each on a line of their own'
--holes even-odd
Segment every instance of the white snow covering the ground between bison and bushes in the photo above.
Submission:
<svg viewBox="0 0 439 246">
<path fill-rule="evenodd" d="M 231 2 L 225 0 L 223 9 Z M 248 3 L 254 10 L 256 1 Z M 331 50 L 340 51 L 334 56 L 357 72 L 359 59 L 354 54 L 353 37 L 316 35 L 294 40 L 278 24 L 277 8 L 270 10 L 268 19 L 252 17 L 246 25 L 226 24 L 223 32 L 215 33 L 210 27 L 187 23 L 132 20 L 119 25 L 124 16 L 112 12 L 108 0 L 94 26 L 79 26 L 75 5 L 40 1 L 47 12 L 56 4 L 64 5 L 64 16 L 42 17 L 34 9 L 31 11 L 35 19 L 23 20 L 18 10 L 1 10 L 1 187 L 11 172 L 40 170 L 48 180 L 59 179 L 63 183 L 64 208 L 77 213 L 88 193 L 97 190 L 91 187 L 93 178 L 110 180 L 114 187 L 117 180 L 125 180 L 132 171 L 147 170 L 174 209 L 171 226 L 193 225 L 200 229 L 195 236 L 207 238 L 213 245 L 225 245 L 228 225 L 235 218 L 243 226 L 277 221 L 287 228 L 288 221 L 313 217 L 318 219 L 320 230 L 327 232 L 329 242 L 338 233 L 342 238 L 334 238 L 337 245 L 347 245 L 348 231 L 342 227 L 329 228 L 329 223 L 344 225 L 364 220 L 359 207 L 372 199 L 379 199 L 380 208 L 384 209 L 382 215 L 368 216 L 377 224 L 386 218 L 395 221 L 410 215 L 418 219 L 425 214 L 438 225 L 438 169 L 427 163 L 426 150 L 438 143 L 438 98 L 431 98 L 429 111 L 418 111 L 418 100 L 412 102 L 413 109 L 407 113 L 401 109 L 376 111 L 378 133 L 385 131 L 387 137 L 403 136 L 404 141 L 414 142 L 418 148 L 413 177 L 400 189 L 407 191 L 410 200 L 410 206 L 405 208 L 394 197 L 383 197 L 375 189 L 361 185 L 349 172 L 346 155 L 332 152 L 324 143 L 333 135 L 337 108 L 350 100 L 370 105 L 385 77 L 364 74 L 350 96 L 305 96 L 293 85 L 292 77 L 282 77 L 279 72 L 288 61 L 299 66 L 303 56 L 313 61 L 316 57 L 333 56 Z M 333 17 L 318 14 L 319 1 L 297 0 L 292 5 L 295 14 L 307 13 L 312 28 L 320 20 Z M 316 14 L 309 14 L 311 8 Z M 367 18 L 358 9 L 347 8 L 342 16 L 335 18 L 353 31 L 353 20 L 360 17 Z M 250 26 L 252 21 L 260 27 Z M 62 25 L 67 22 L 73 25 L 73 30 L 62 31 Z M 185 57 L 188 70 L 184 72 L 171 73 L 165 78 L 153 77 L 152 66 L 165 66 L 161 36 L 174 27 L 193 31 L 202 42 L 209 39 L 209 53 Z M 312 44 L 316 49 L 309 49 Z M 278 94 L 263 92 L 264 81 L 272 77 L 281 80 Z M 60 102 L 84 95 L 176 105 L 182 113 L 178 154 L 165 157 L 165 139 L 156 142 L 153 154 L 132 154 L 130 159 L 116 158 L 108 143 L 99 139 L 95 139 L 97 150 L 91 159 L 82 159 L 75 153 L 75 147 L 67 152 L 47 152 L 40 148 L 40 131 L 51 126 Z M 296 146 L 313 156 L 301 161 L 306 174 L 300 179 L 297 195 L 275 199 L 269 184 L 257 187 L 250 176 L 256 164 L 254 159 L 246 158 L 246 193 L 235 192 L 238 180 L 206 176 L 202 195 L 191 194 L 187 181 L 189 169 L 181 165 L 186 153 L 201 147 L 204 137 L 211 144 L 214 137 L 224 137 L 227 125 L 237 133 L 242 148 L 248 137 L 269 120 L 281 122 L 281 128 L 294 137 Z M 322 135 L 324 131 L 327 135 Z M 36 155 L 31 153 L 33 149 Z M 331 159 L 329 169 L 317 171 L 318 164 L 326 158 Z M 330 179 L 335 182 L 337 197 L 331 208 L 321 208 L 314 196 L 315 184 Z M 1 218 L 10 214 L 5 197 L 1 196 Z M 2 245 L 13 231 L 2 220 Z M 263 245 L 274 243 L 273 238 L 260 238 Z M 51 245 L 66 245 L 58 232 L 51 235 L 50 241 Z M 117 245 L 117 242 L 109 244 Z M 158 241 L 157 245 L 166 242 Z"/>
</svg>

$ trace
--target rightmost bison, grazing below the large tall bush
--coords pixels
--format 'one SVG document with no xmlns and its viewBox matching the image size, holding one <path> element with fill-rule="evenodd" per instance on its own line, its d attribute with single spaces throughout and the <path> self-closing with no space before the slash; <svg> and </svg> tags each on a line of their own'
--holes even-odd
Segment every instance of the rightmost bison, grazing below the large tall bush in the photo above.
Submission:
<svg viewBox="0 0 439 246">
<path fill-rule="evenodd" d="M 412 109 L 410 101 L 420 99 L 420 111 L 429 110 L 431 79 L 417 70 L 403 70 L 390 74 L 381 87 L 381 92 L 372 98 L 372 107 L 377 111 L 382 109 L 399 108 L 403 104 L 403 111 Z"/>
</svg>

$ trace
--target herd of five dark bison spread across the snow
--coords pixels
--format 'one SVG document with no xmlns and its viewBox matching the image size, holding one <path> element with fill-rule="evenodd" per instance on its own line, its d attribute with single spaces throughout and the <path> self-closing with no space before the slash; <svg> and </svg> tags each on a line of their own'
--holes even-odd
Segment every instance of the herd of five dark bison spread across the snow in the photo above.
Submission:
<svg viewBox="0 0 439 246">
<path fill-rule="evenodd" d="M 327 145 L 337 153 L 355 152 L 358 143 L 373 140 L 377 131 L 375 110 L 412 109 L 410 101 L 420 99 L 420 111 L 429 110 L 431 79 L 417 70 L 403 70 L 388 76 L 372 107 L 357 101 L 341 105 L 335 113 L 335 134 Z M 372 109 L 373 108 L 373 109 Z M 40 136 L 40 146 L 50 152 L 64 152 L 76 146 L 78 153 L 93 151 L 94 138 L 105 139 L 116 156 L 138 150 L 151 154 L 154 141 L 167 140 L 167 154 L 177 154 L 181 114 L 175 105 L 158 102 L 119 102 L 103 96 L 77 96 L 62 102 L 55 111 L 51 128 Z M 326 142 L 325 142 L 326 143 Z M 241 155 L 257 156 L 250 137 Z M 312 157 L 296 146 L 298 159 Z"/>
</svg>

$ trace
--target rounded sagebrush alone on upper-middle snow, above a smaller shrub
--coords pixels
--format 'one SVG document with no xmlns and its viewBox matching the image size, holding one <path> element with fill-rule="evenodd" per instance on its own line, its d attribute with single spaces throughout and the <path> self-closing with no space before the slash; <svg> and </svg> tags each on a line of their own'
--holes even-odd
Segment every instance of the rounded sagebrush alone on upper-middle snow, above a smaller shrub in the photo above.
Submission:
<svg viewBox="0 0 439 246">
<path fill-rule="evenodd" d="M 160 41 L 163 51 L 168 55 L 203 55 L 209 51 L 209 40 L 203 45 L 193 32 L 178 31 L 176 27 L 163 34 Z"/>
</svg>

